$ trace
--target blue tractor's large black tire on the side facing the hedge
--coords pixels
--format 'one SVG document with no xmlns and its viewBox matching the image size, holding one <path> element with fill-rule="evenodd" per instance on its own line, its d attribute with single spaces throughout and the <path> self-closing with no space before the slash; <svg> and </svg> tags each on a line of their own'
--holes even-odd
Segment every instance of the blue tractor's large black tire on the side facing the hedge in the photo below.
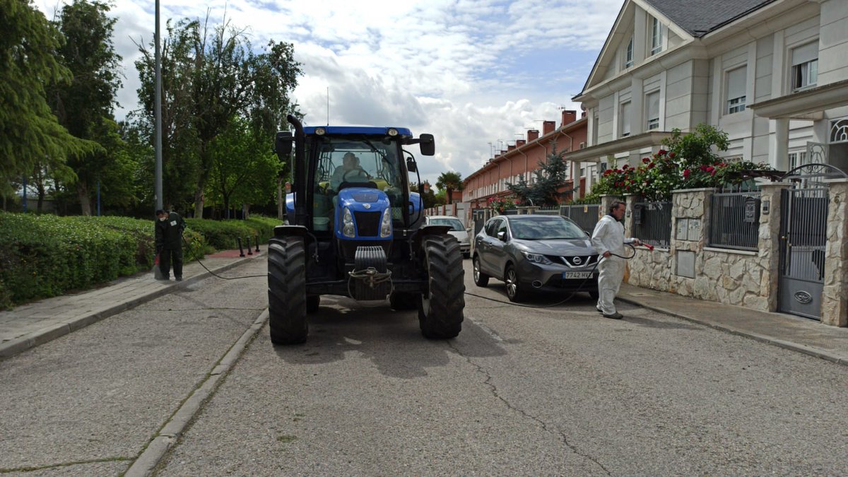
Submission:
<svg viewBox="0 0 848 477">
<path fill-rule="evenodd" d="M 268 244 L 268 323 L 275 345 L 306 341 L 306 250 L 301 237 Z"/>
</svg>

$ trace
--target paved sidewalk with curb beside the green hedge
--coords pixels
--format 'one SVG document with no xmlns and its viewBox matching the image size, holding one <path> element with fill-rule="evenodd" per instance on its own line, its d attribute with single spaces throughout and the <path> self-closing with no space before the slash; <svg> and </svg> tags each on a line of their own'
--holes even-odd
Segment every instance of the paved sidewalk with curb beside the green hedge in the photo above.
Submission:
<svg viewBox="0 0 848 477">
<path fill-rule="evenodd" d="M 224 272 L 248 260 L 265 260 L 265 250 L 240 257 L 238 250 L 206 255 L 203 264 L 212 272 Z M 121 311 L 181 289 L 211 276 L 197 261 L 182 267 L 182 281 L 158 281 L 153 272 L 118 278 L 97 289 L 61 295 L 0 311 L 0 360 L 49 340 L 69 334 Z"/>
</svg>

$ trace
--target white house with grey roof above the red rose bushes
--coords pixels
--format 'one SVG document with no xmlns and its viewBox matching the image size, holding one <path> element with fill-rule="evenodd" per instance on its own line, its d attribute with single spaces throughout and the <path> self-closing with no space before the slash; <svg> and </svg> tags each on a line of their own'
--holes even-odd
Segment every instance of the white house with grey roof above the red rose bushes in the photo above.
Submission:
<svg viewBox="0 0 848 477">
<path fill-rule="evenodd" d="M 574 100 L 587 190 L 701 122 L 728 160 L 848 170 L 848 0 L 626 0 Z"/>
</svg>

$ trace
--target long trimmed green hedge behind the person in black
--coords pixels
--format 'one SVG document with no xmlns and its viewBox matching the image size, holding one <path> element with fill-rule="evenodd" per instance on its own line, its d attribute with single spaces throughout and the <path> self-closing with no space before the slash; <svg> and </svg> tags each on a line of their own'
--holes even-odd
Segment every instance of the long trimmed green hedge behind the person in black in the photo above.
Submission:
<svg viewBox="0 0 848 477">
<path fill-rule="evenodd" d="M 279 223 L 188 219 L 186 261 L 235 249 L 236 237 L 265 243 Z M 0 211 L 0 310 L 150 270 L 153 255 L 153 221 Z"/>
</svg>

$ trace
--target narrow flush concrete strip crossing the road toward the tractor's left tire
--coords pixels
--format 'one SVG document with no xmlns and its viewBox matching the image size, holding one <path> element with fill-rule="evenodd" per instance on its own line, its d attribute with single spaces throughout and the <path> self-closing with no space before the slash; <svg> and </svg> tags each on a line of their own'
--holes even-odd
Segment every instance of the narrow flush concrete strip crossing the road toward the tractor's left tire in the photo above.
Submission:
<svg viewBox="0 0 848 477">
<path fill-rule="evenodd" d="M 220 362 L 215 364 L 215 368 L 209 372 L 209 375 L 204 380 L 203 384 L 188 396 L 187 400 L 182 403 L 179 409 L 171 415 L 170 419 L 159 432 L 153 436 L 141 455 L 136 458 L 129 469 L 126 470 L 125 476 L 137 477 L 153 474 L 153 471 L 163 462 L 165 456 L 171 447 L 180 440 L 182 433 L 188 428 L 192 419 L 200 412 L 209 397 L 218 389 L 227 373 L 230 372 L 233 366 L 236 365 L 239 356 L 242 356 L 243 351 L 248 347 L 250 342 L 259 333 L 265 322 L 268 321 L 268 310 L 259 313 L 254 323 L 245 331 L 242 336 L 236 341 L 232 348 L 226 352 Z"/>
</svg>

